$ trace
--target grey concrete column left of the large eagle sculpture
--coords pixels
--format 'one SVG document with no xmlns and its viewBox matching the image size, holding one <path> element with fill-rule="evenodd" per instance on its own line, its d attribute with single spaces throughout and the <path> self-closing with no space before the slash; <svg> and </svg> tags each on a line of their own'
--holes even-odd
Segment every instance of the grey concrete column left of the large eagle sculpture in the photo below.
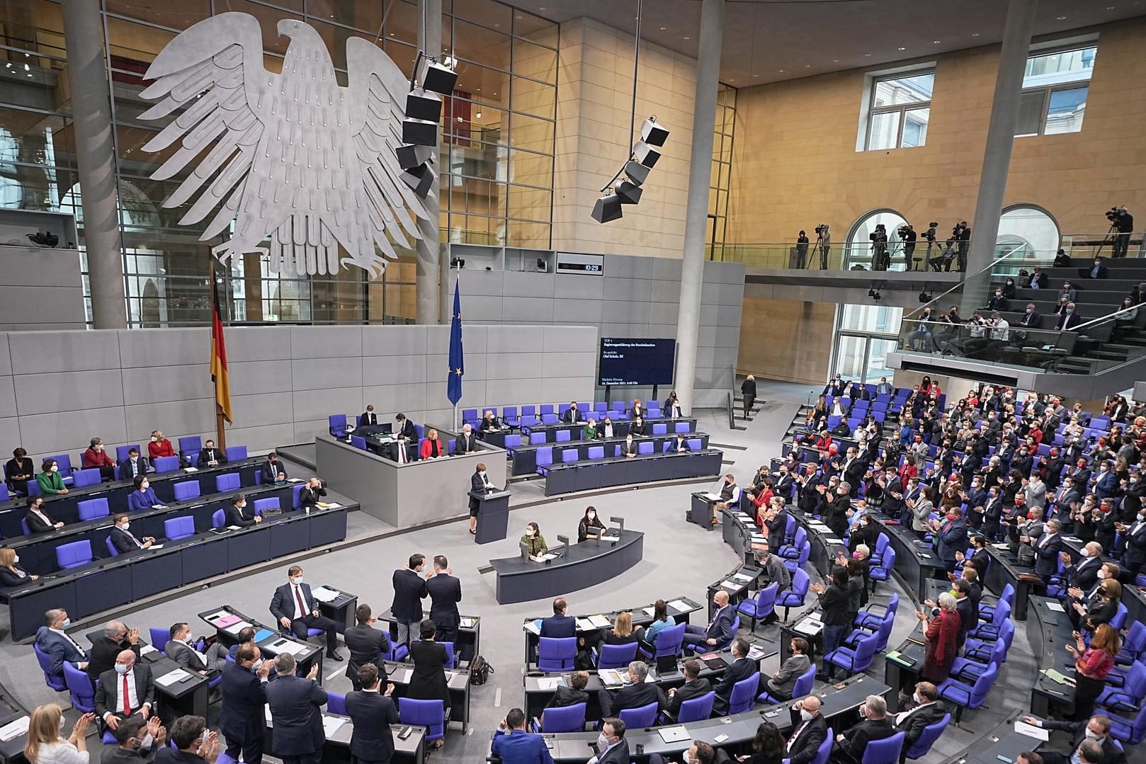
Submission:
<svg viewBox="0 0 1146 764">
<path fill-rule="evenodd" d="M 103 56 L 100 3 L 63 0 L 63 21 L 76 167 L 84 202 L 84 246 L 92 283 L 92 315 L 96 329 L 126 329 L 111 88 Z"/>
</svg>

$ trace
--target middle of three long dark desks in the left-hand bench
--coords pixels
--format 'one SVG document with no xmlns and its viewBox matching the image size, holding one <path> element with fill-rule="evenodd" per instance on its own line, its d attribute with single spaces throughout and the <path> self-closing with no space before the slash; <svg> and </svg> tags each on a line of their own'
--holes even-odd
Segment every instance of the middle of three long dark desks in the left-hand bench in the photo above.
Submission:
<svg viewBox="0 0 1146 764">
<path fill-rule="evenodd" d="M 293 483 L 282 483 L 246 488 L 243 493 L 248 503 L 252 505 L 256 499 L 277 498 L 280 509 L 290 511 L 293 490 Z M 218 510 L 230 506 L 233 496 L 234 493 L 217 494 L 212 491 L 211 496 L 196 496 L 185 502 L 171 502 L 163 509 L 131 512 L 132 535 L 136 538 L 151 536 L 157 539 L 157 543 L 163 543 L 167 535 L 164 522 L 185 517 L 195 519 L 196 531 L 207 530 L 211 528 L 211 515 Z M 112 519 L 119 513 L 119 510 L 113 510 L 110 514 L 73 522 L 48 533 L 5 538 L 3 545 L 10 546 L 19 554 L 19 567 L 37 575 L 47 575 L 60 570 L 56 548 L 61 544 L 86 541 L 92 544 L 94 557 L 99 559 L 110 558 L 111 552 L 108 551 L 107 541 L 113 527 Z"/>
</svg>

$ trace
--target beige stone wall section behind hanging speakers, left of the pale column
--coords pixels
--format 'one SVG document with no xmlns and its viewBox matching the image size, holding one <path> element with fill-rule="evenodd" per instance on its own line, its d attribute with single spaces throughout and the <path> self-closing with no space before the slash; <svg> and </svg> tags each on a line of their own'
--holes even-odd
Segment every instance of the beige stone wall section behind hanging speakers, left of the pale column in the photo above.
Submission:
<svg viewBox="0 0 1146 764">
<path fill-rule="evenodd" d="M 633 38 L 594 21 L 562 24 L 554 173 L 554 247 L 579 252 L 680 258 L 696 62 L 642 42 L 637 124 L 657 115 L 672 134 L 625 218 L 597 223 L 589 213 L 601 187 L 628 157 L 633 97 Z"/>
</svg>

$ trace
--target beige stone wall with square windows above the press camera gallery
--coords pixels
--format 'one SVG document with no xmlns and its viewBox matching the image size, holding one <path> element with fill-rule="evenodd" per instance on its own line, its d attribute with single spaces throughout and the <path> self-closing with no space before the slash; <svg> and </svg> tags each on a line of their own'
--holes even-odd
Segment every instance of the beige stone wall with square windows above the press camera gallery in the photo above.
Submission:
<svg viewBox="0 0 1146 764">
<path fill-rule="evenodd" d="M 1045 207 L 1063 234 L 1105 231 L 1114 204 L 1143 227 L 1144 42 L 1143 21 L 1100 29 L 1082 132 L 1017 139 L 1005 204 Z M 827 222 L 838 246 L 877 207 L 941 234 L 972 220 L 997 62 L 997 46 L 940 56 L 926 145 L 893 151 L 855 150 L 864 70 L 741 88 L 728 241 L 793 241 Z"/>
</svg>

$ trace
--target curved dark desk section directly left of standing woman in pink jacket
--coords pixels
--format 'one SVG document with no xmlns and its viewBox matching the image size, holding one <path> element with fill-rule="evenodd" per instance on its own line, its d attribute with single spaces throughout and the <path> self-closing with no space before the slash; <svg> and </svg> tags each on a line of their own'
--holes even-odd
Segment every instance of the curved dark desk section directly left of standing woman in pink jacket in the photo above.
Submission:
<svg viewBox="0 0 1146 764">
<path fill-rule="evenodd" d="M 1066 649 L 1075 644 L 1074 627 L 1063 605 L 1051 597 L 1033 594 L 1029 612 L 1034 619 L 1027 623 L 1027 637 L 1038 665 L 1035 686 L 1030 688 L 1030 711 L 1046 718 L 1053 703 L 1059 714 L 1069 712 L 1074 710 L 1074 687 L 1051 676 L 1074 678 L 1074 657 Z"/>
</svg>

